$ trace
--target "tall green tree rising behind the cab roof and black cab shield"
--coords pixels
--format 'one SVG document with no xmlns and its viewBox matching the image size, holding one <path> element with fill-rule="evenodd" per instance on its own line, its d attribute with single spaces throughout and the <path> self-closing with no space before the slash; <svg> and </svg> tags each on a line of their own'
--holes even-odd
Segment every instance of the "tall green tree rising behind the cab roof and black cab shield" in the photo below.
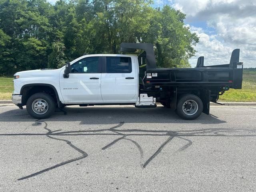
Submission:
<svg viewBox="0 0 256 192">
<path fill-rule="evenodd" d="M 122 42 L 141 42 L 153 8 L 148 0 L 95 0 L 96 33 L 105 50 L 117 53 Z"/>
</svg>

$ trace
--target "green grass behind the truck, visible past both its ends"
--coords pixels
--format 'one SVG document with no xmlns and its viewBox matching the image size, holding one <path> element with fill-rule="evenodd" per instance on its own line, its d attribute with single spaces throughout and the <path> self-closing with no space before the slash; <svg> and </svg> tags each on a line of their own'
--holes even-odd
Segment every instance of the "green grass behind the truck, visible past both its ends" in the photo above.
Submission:
<svg viewBox="0 0 256 192">
<path fill-rule="evenodd" d="M 11 99 L 13 77 L 0 77 L 0 100 Z M 230 89 L 220 96 L 220 101 L 256 102 L 256 71 L 244 70 L 242 89 Z"/>
</svg>

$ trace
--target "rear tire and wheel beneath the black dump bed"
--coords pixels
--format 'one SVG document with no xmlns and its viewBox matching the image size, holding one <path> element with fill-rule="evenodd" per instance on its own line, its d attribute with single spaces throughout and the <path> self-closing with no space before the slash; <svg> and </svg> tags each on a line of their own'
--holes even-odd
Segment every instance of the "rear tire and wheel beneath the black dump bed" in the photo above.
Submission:
<svg viewBox="0 0 256 192">
<path fill-rule="evenodd" d="M 194 120 L 202 114 L 202 111 L 202 100 L 196 95 L 184 94 L 178 100 L 176 113 L 183 119 Z"/>
</svg>

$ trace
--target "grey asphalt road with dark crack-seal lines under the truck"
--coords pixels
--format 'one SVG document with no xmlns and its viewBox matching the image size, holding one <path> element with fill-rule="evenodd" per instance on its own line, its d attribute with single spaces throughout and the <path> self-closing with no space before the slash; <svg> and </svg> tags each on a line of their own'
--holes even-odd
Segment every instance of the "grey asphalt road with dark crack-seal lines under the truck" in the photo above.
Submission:
<svg viewBox="0 0 256 192">
<path fill-rule="evenodd" d="M 256 107 L 186 121 L 162 106 L 0 105 L 0 191 L 256 191 Z"/>
</svg>

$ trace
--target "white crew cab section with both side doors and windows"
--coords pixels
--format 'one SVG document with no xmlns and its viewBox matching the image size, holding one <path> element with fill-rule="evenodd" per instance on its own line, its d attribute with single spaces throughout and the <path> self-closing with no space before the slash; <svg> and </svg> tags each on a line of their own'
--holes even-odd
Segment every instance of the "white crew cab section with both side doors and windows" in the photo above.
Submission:
<svg viewBox="0 0 256 192">
<path fill-rule="evenodd" d="M 68 78 L 60 70 L 64 104 L 135 103 L 138 100 L 138 58 L 127 55 L 87 55 L 70 63 Z"/>
</svg>

